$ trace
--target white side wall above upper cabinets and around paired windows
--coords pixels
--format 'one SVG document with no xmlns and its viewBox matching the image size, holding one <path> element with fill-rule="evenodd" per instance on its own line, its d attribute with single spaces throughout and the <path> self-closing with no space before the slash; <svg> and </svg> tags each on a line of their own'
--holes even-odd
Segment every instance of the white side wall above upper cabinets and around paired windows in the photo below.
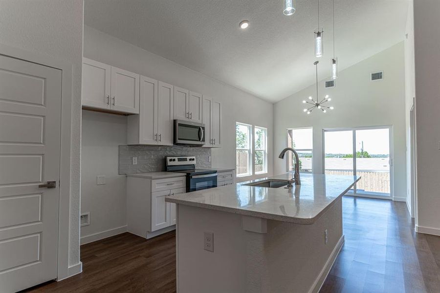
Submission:
<svg viewBox="0 0 440 293">
<path fill-rule="evenodd" d="M 267 127 L 268 141 L 272 141 L 271 103 L 88 26 L 85 26 L 84 57 L 187 88 L 220 101 L 223 109 L 222 147 L 212 150 L 213 167 L 235 167 L 236 121 Z M 272 173 L 272 157 L 272 144 L 269 143 L 269 174 Z M 262 176 L 250 178 L 258 177 Z"/>
</svg>

